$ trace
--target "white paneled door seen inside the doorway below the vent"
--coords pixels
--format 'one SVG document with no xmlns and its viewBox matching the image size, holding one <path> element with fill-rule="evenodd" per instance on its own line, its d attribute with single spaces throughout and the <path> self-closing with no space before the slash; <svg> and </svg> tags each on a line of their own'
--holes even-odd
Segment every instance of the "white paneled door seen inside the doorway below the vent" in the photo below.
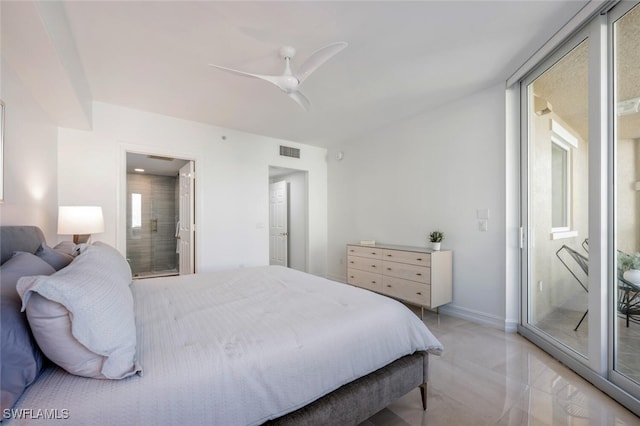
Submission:
<svg viewBox="0 0 640 426">
<path fill-rule="evenodd" d="M 286 181 L 269 185 L 269 264 L 288 266 L 289 194 Z"/>
</svg>

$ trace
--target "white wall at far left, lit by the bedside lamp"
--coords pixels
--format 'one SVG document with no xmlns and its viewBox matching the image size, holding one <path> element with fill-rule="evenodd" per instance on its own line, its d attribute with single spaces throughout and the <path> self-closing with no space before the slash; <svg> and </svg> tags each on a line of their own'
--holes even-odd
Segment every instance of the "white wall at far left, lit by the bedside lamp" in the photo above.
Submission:
<svg viewBox="0 0 640 426">
<path fill-rule="evenodd" d="M 2 64 L 1 87 L 6 123 L 0 224 L 37 225 L 47 241 L 55 241 L 57 127 L 7 62 Z"/>
</svg>

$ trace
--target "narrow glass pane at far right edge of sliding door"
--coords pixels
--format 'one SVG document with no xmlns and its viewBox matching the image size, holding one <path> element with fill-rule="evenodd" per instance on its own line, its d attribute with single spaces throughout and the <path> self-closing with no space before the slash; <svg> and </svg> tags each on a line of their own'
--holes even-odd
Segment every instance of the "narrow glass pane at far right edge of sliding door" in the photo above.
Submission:
<svg viewBox="0 0 640 426">
<path fill-rule="evenodd" d="M 614 370 L 640 383 L 640 6 L 613 25 L 616 319 Z"/>
</svg>

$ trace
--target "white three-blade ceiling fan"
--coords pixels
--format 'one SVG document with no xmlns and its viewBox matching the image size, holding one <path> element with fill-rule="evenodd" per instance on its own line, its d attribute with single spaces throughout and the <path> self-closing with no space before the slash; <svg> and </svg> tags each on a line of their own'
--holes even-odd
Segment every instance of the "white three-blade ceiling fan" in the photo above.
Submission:
<svg viewBox="0 0 640 426">
<path fill-rule="evenodd" d="M 291 46 L 284 46 L 280 49 L 280 56 L 284 58 L 284 72 L 281 75 L 253 74 L 214 64 L 209 64 L 209 66 L 245 77 L 259 78 L 261 80 L 265 80 L 269 83 L 275 84 L 280 90 L 285 92 L 291 99 L 296 101 L 302 108 L 308 111 L 311 103 L 302 93 L 300 93 L 298 88 L 300 87 L 302 82 L 305 81 L 307 77 L 309 77 L 309 75 L 311 75 L 311 73 L 313 73 L 320 67 L 320 65 L 331 59 L 345 47 L 347 47 L 347 43 L 336 42 L 316 50 L 300 66 L 300 68 L 298 68 L 298 72 L 296 74 L 293 74 L 291 72 L 290 62 L 296 54 L 296 50 Z"/>
</svg>

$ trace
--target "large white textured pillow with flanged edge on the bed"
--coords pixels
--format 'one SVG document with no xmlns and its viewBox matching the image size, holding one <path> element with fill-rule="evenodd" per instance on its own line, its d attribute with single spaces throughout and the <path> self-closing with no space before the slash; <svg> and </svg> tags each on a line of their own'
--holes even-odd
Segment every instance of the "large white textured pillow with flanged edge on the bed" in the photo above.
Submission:
<svg viewBox="0 0 640 426">
<path fill-rule="evenodd" d="M 49 359 L 79 376 L 121 379 L 141 371 L 130 282 L 127 261 L 99 244 L 53 275 L 20 278 L 17 289 Z"/>
</svg>

